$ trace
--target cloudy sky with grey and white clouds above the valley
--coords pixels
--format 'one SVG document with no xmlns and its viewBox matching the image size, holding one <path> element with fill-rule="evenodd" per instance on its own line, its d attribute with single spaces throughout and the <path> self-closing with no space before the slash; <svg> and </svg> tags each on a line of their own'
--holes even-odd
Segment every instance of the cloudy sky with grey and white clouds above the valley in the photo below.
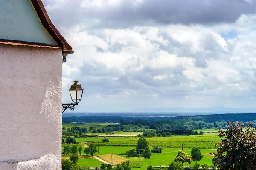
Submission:
<svg viewBox="0 0 256 170">
<path fill-rule="evenodd" d="M 76 111 L 255 107 L 256 0 L 43 0 L 75 53 Z"/>
</svg>

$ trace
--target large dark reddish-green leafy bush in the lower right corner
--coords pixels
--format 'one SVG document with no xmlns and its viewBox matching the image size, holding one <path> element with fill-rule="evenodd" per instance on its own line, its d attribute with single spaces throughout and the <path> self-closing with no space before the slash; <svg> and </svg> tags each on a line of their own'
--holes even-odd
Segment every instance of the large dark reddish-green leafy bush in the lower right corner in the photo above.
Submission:
<svg viewBox="0 0 256 170">
<path fill-rule="evenodd" d="M 239 122 L 227 121 L 228 129 L 219 130 L 221 143 L 212 159 L 220 170 L 256 168 L 256 137 L 251 123 L 247 126 Z"/>
</svg>

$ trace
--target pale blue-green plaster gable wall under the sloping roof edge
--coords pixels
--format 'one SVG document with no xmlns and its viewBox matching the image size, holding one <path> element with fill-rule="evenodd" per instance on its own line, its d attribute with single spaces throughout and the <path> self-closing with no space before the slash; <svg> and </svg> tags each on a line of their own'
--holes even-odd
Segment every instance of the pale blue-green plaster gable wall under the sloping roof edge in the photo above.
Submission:
<svg viewBox="0 0 256 170">
<path fill-rule="evenodd" d="M 0 0 L 0 39 L 58 45 L 42 25 L 30 0 Z"/>
</svg>

